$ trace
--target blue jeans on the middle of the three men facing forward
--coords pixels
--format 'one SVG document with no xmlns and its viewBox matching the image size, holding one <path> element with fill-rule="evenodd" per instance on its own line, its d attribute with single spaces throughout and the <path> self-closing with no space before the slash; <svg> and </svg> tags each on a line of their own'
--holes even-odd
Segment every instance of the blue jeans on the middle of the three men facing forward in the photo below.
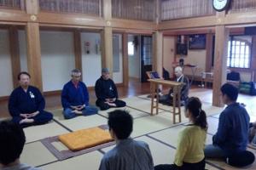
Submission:
<svg viewBox="0 0 256 170">
<path fill-rule="evenodd" d="M 91 105 L 85 106 L 84 109 L 82 110 L 82 114 L 84 116 L 95 115 L 97 113 L 98 113 L 98 109 Z M 73 113 L 72 109 L 66 108 L 63 111 L 63 116 L 65 119 L 72 119 L 73 117 L 75 117 L 77 115 L 75 113 Z"/>
</svg>

